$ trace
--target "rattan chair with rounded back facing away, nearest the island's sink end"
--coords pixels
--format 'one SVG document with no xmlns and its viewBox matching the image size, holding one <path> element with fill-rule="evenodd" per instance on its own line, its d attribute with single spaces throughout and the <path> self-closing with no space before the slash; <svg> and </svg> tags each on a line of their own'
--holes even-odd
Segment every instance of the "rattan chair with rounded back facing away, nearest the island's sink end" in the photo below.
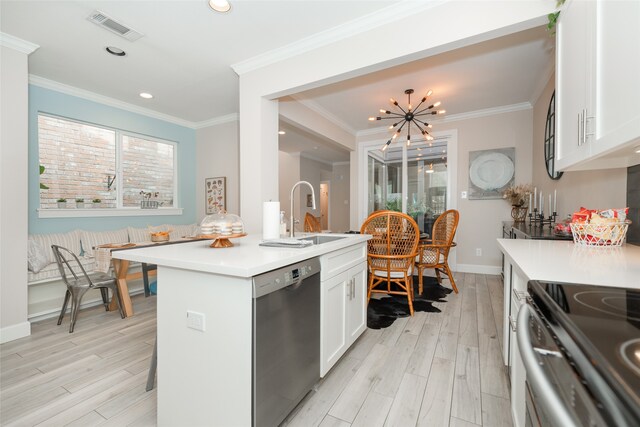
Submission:
<svg viewBox="0 0 640 427">
<path fill-rule="evenodd" d="M 406 295 L 413 316 L 413 268 L 420 240 L 418 224 L 401 212 L 377 211 L 365 220 L 360 233 L 373 236 L 367 242 L 367 302 L 372 293 Z M 377 288 L 384 284 L 386 287 Z"/>
</svg>

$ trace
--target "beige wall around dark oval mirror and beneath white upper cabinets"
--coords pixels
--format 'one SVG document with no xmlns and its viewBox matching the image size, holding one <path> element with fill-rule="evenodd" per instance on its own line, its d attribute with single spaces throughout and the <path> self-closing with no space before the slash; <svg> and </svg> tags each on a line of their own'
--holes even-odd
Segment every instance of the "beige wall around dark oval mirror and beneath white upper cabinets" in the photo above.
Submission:
<svg viewBox="0 0 640 427">
<path fill-rule="evenodd" d="M 625 207 L 627 199 L 626 168 L 565 172 L 559 180 L 552 180 L 547 175 L 544 163 L 544 131 L 549 100 L 551 100 L 554 88 L 555 80 L 554 76 L 551 76 L 534 105 L 533 184 L 544 194 L 551 194 L 557 190 L 558 220 L 577 211 L 581 206 L 589 209 Z"/>
</svg>

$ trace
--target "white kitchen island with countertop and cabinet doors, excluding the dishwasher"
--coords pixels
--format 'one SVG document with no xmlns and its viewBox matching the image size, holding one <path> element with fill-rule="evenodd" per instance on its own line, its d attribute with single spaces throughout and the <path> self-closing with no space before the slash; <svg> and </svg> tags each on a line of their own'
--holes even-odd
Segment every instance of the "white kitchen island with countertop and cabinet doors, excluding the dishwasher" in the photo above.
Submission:
<svg viewBox="0 0 640 427">
<path fill-rule="evenodd" d="M 158 265 L 159 426 L 251 425 L 252 278 L 314 257 L 321 264 L 321 319 L 330 320 L 321 320 L 322 374 L 330 369 L 366 327 L 370 238 L 331 236 L 345 238 L 278 248 L 259 246 L 261 237 L 250 235 L 232 239 L 231 248 L 214 249 L 211 241 L 196 241 L 113 253 L 115 258 Z M 336 286 L 336 278 L 344 283 Z M 335 295 L 345 301 L 334 304 L 329 285 L 341 289 Z M 344 324 L 336 323 L 340 310 L 349 310 L 349 305 L 351 314 L 342 311 Z M 188 311 L 202 316 L 204 330 L 187 326 Z M 323 331 L 327 325 L 334 331 Z"/>
</svg>

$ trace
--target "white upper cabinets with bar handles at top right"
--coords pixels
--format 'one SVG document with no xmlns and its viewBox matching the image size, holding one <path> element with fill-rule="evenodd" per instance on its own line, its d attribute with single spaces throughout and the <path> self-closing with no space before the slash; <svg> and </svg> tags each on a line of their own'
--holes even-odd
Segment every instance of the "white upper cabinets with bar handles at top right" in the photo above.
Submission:
<svg viewBox="0 0 640 427">
<path fill-rule="evenodd" d="M 570 0 L 556 33 L 559 170 L 635 164 L 640 156 L 640 2 Z"/>
</svg>

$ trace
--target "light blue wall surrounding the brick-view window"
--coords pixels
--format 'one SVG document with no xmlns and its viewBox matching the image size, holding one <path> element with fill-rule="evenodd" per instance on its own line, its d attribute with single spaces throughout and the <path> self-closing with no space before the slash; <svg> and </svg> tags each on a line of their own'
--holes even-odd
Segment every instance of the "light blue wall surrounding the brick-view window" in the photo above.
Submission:
<svg viewBox="0 0 640 427">
<path fill-rule="evenodd" d="M 178 206 L 182 215 L 89 218 L 38 218 L 40 176 L 38 113 L 49 113 L 96 125 L 177 142 Z M 190 224 L 196 220 L 196 132 L 163 120 L 29 85 L 29 233 L 61 233 L 74 229 L 117 230 L 127 226 Z M 43 190 L 46 191 L 46 190 Z"/>
</svg>

